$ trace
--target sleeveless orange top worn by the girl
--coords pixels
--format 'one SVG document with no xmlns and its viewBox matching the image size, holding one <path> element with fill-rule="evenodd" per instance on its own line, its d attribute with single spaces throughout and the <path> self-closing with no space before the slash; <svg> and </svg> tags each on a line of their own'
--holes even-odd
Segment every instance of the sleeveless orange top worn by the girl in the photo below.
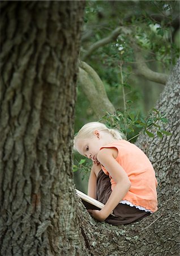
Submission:
<svg viewBox="0 0 180 256">
<path fill-rule="evenodd" d="M 121 141 L 112 142 L 100 148 L 117 148 L 118 156 L 115 160 L 126 171 L 131 182 L 130 190 L 122 200 L 131 204 L 143 207 L 156 212 L 157 210 L 157 180 L 155 170 L 148 157 L 139 147 L 122 139 Z M 112 190 L 116 184 L 109 172 L 102 167 L 102 171 L 109 175 L 112 184 Z"/>
</svg>

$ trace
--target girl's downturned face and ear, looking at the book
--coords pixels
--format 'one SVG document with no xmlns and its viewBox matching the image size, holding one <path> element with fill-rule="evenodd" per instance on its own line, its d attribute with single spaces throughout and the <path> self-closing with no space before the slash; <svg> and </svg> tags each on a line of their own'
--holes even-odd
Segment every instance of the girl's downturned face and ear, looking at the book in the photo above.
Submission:
<svg viewBox="0 0 180 256">
<path fill-rule="evenodd" d="M 100 132 L 95 131 L 92 138 L 78 139 L 76 148 L 81 155 L 84 155 L 92 161 L 97 161 L 97 153 L 102 146 L 105 146 L 105 144 L 106 141 L 101 136 Z"/>
</svg>

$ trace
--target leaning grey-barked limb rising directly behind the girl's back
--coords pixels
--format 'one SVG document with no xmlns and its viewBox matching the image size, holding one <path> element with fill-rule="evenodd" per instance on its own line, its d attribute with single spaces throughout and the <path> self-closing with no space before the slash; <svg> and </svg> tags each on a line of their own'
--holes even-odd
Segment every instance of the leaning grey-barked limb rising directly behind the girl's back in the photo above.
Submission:
<svg viewBox="0 0 180 256">
<path fill-rule="evenodd" d="M 161 124 L 163 130 L 172 133 L 161 138 L 142 135 L 136 144 L 148 155 L 158 179 L 158 201 L 160 204 L 179 189 L 179 148 L 180 148 L 180 60 L 169 76 L 164 91 L 160 95 L 156 109 L 166 113 L 168 123 Z"/>
</svg>

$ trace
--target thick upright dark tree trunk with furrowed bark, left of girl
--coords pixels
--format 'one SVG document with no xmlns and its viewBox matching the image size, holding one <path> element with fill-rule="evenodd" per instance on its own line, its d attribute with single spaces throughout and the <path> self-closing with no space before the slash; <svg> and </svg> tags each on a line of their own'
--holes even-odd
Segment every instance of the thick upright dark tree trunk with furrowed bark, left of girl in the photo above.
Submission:
<svg viewBox="0 0 180 256">
<path fill-rule="evenodd" d="M 1 255 L 78 250 L 71 170 L 83 9 L 1 3 Z"/>
</svg>

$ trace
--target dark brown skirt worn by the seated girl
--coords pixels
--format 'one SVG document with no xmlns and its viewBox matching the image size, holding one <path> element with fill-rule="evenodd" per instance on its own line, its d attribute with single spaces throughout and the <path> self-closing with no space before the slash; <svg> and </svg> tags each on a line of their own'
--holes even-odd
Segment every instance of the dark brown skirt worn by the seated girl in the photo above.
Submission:
<svg viewBox="0 0 180 256">
<path fill-rule="evenodd" d="M 96 200 L 105 204 L 111 193 L 112 189 L 109 176 L 101 170 L 97 176 Z M 139 210 L 136 207 L 130 207 L 130 205 L 121 203 L 115 207 L 113 213 L 115 217 L 109 215 L 105 220 L 109 224 L 113 225 L 129 224 L 151 214 L 149 212 L 145 212 L 145 210 Z"/>
</svg>

